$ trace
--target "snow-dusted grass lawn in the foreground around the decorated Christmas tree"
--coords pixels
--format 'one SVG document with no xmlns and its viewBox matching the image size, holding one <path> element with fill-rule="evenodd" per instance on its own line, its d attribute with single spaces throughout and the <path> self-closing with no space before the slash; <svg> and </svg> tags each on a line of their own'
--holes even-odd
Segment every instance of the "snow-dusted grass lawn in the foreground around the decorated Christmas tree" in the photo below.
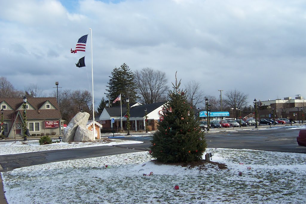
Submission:
<svg viewBox="0 0 306 204">
<path fill-rule="evenodd" d="M 9 204 L 306 202 L 305 154 L 207 152 L 228 169 L 212 163 L 206 168 L 158 165 L 148 152 L 61 161 L 2 172 L 5 196 Z"/>
</svg>

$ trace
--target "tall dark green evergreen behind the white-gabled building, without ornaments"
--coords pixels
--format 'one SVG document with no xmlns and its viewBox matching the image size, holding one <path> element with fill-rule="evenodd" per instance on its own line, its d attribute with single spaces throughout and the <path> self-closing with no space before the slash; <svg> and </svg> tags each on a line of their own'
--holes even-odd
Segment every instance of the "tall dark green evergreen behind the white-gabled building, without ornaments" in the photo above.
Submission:
<svg viewBox="0 0 306 204">
<path fill-rule="evenodd" d="M 129 66 L 124 63 L 120 68 L 115 67 L 111 74 L 112 76 L 110 76 L 108 86 L 106 86 L 109 88 L 106 91 L 108 92 L 107 95 L 110 95 L 110 99 L 114 100 L 121 93 L 122 101 L 125 101 L 125 98 L 129 97 L 130 102 L 135 102 L 137 99 L 137 86 L 134 82 L 135 76 L 129 69 Z M 116 103 L 120 104 L 120 102 Z"/>
</svg>

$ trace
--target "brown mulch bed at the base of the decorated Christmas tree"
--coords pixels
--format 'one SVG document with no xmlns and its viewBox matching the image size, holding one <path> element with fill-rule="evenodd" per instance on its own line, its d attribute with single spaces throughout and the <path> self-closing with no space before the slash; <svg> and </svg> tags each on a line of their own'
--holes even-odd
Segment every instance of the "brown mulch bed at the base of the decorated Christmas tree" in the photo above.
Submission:
<svg viewBox="0 0 306 204">
<path fill-rule="evenodd" d="M 159 162 L 157 160 L 151 160 L 154 164 L 156 165 L 162 165 L 165 163 Z M 213 162 L 213 161 L 205 161 L 204 159 L 200 160 L 200 161 L 192 161 L 192 162 L 181 162 L 181 163 L 166 163 L 167 165 L 175 165 L 175 166 L 182 166 L 182 167 L 186 167 L 186 169 L 193 169 L 193 168 L 197 168 L 199 170 L 207 170 L 210 168 L 214 168 L 214 169 L 227 169 L 227 165 L 223 164 L 223 163 L 219 163 L 219 162 Z M 209 165 L 211 164 L 211 165 Z"/>
</svg>

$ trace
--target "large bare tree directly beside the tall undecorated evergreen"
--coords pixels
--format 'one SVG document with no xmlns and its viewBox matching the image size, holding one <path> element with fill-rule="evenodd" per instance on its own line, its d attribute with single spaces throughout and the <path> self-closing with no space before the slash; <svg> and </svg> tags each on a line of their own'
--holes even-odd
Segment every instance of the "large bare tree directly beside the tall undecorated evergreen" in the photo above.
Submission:
<svg viewBox="0 0 306 204">
<path fill-rule="evenodd" d="M 140 100 L 145 103 L 162 102 L 169 87 L 166 73 L 151 68 L 143 68 L 134 72 L 135 83 Z"/>
</svg>

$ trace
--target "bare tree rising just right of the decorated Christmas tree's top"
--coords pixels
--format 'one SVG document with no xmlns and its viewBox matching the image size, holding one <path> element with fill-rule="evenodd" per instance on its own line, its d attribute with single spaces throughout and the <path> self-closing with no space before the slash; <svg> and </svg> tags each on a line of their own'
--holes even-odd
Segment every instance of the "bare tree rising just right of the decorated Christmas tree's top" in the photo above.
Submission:
<svg viewBox="0 0 306 204">
<path fill-rule="evenodd" d="M 200 88 L 200 83 L 194 80 L 189 81 L 185 86 L 187 100 L 192 107 L 195 107 L 197 104 L 201 104 L 203 101 L 205 101 L 204 92 Z"/>
</svg>

